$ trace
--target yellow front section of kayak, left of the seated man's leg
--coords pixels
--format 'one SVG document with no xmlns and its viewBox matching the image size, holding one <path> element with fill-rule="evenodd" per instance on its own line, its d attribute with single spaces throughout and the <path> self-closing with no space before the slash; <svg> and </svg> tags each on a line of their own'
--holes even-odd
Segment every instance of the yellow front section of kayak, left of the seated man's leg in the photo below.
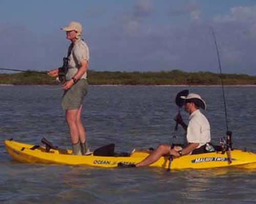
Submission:
<svg viewBox="0 0 256 204">
<path fill-rule="evenodd" d="M 72 155 L 72 150 L 67 149 L 50 149 L 46 152 L 46 147 L 39 146 L 31 149 L 34 145 L 19 143 L 6 140 L 5 147 L 8 154 L 16 161 L 25 163 L 53 163 L 69 165 L 90 165 L 98 167 L 117 167 L 118 162 L 127 164 L 138 163 L 143 160 L 148 153 L 133 152 L 130 157 L 103 157 L 103 156 L 77 156 Z"/>
</svg>

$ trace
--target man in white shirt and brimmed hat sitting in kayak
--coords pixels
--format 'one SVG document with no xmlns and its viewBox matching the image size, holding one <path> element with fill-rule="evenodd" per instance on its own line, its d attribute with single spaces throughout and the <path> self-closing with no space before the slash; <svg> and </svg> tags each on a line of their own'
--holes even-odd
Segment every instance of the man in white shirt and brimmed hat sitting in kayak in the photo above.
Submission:
<svg viewBox="0 0 256 204">
<path fill-rule="evenodd" d="M 200 95 L 189 93 L 187 96 L 181 96 L 184 100 L 184 109 L 189 114 L 188 125 L 186 125 L 180 114 L 176 116 L 176 121 L 187 131 L 187 146 L 183 149 L 172 148 L 168 144 L 160 144 L 156 150 L 152 152 L 143 161 L 126 165 L 118 163 L 118 167 L 142 167 L 153 164 L 160 157 L 164 155 L 173 155 L 174 157 L 181 157 L 182 155 L 189 155 L 193 150 L 203 147 L 210 142 L 210 124 L 207 118 L 200 112 L 199 108 L 206 109 L 206 104 Z"/>
</svg>

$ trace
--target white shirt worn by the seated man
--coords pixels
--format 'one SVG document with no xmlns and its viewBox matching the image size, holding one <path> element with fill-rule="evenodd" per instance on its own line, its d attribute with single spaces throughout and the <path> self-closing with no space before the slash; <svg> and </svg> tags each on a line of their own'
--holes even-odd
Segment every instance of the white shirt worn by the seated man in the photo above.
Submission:
<svg viewBox="0 0 256 204">
<path fill-rule="evenodd" d="M 187 126 L 187 142 L 199 143 L 199 147 L 210 142 L 210 124 L 207 118 L 196 110 L 189 116 Z"/>
</svg>

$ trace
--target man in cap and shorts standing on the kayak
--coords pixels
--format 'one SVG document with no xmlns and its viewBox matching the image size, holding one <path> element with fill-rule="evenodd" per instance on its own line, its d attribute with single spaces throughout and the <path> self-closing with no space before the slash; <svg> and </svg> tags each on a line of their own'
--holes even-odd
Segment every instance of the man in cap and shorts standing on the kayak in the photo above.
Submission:
<svg viewBox="0 0 256 204">
<path fill-rule="evenodd" d="M 62 81 L 62 109 L 66 111 L 66 121 L 73 147 L 73 155 L 90 154 L 86 140 L 86 131 L 81 122 L 83 98 L 88 92 L 87 70 L 89 63 L 89 48 L 81 39 L 82 25 L 71 21 L 67 27 L 66 38 L 71 41 L 68 49 L 68 57 L 63 67 L 55 68 L 48 72 L 51 77 L 57 77 L 64 72 Z"/>
</svg>

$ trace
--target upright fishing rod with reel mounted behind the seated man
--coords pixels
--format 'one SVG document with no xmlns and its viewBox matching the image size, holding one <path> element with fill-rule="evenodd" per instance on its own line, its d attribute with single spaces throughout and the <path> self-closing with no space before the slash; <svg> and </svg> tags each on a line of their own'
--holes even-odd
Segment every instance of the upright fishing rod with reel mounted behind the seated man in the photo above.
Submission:
<svg viewBox="0 0 256 204">
<path fill-rule="evenodd" d="M 227 157 L 228 157 L 228 164 L 231 164 L 231 149 L 232 149 L 232 132 L 228 130 L 228 119 L 227 119 L 227 107 L 226 107 L 226 100 L 225 100 L 225 92 L 224 92 L 224 85 L 222 80 L 222 69 L 221 69 L 221 60 L 220 60 L 220 53 L 219 53 L 219 47 L 216 39 L 216 35 L 214 32 L 214 29 L 211 28 L 212 35 L 214 36 L 214 42 L 216 46 L 217 56 L 218 56 L 218 62 L 219 62 L 219 70 L 220 70 L 220 78 L 221 78 L 221 87 L 222 87 L 222 96 L 223 96 L 223 103 L 224 103 L 224 110 L 225 110 L 225 119 L 226 119 L 226 141 L 224 138 L 221 138 L 221 146 L 222 146 L 222 153 L 224 154 L 225 151 L 227 151 Z M 226 148 L 225 148 L 226 143 Z"/>
</svg>

